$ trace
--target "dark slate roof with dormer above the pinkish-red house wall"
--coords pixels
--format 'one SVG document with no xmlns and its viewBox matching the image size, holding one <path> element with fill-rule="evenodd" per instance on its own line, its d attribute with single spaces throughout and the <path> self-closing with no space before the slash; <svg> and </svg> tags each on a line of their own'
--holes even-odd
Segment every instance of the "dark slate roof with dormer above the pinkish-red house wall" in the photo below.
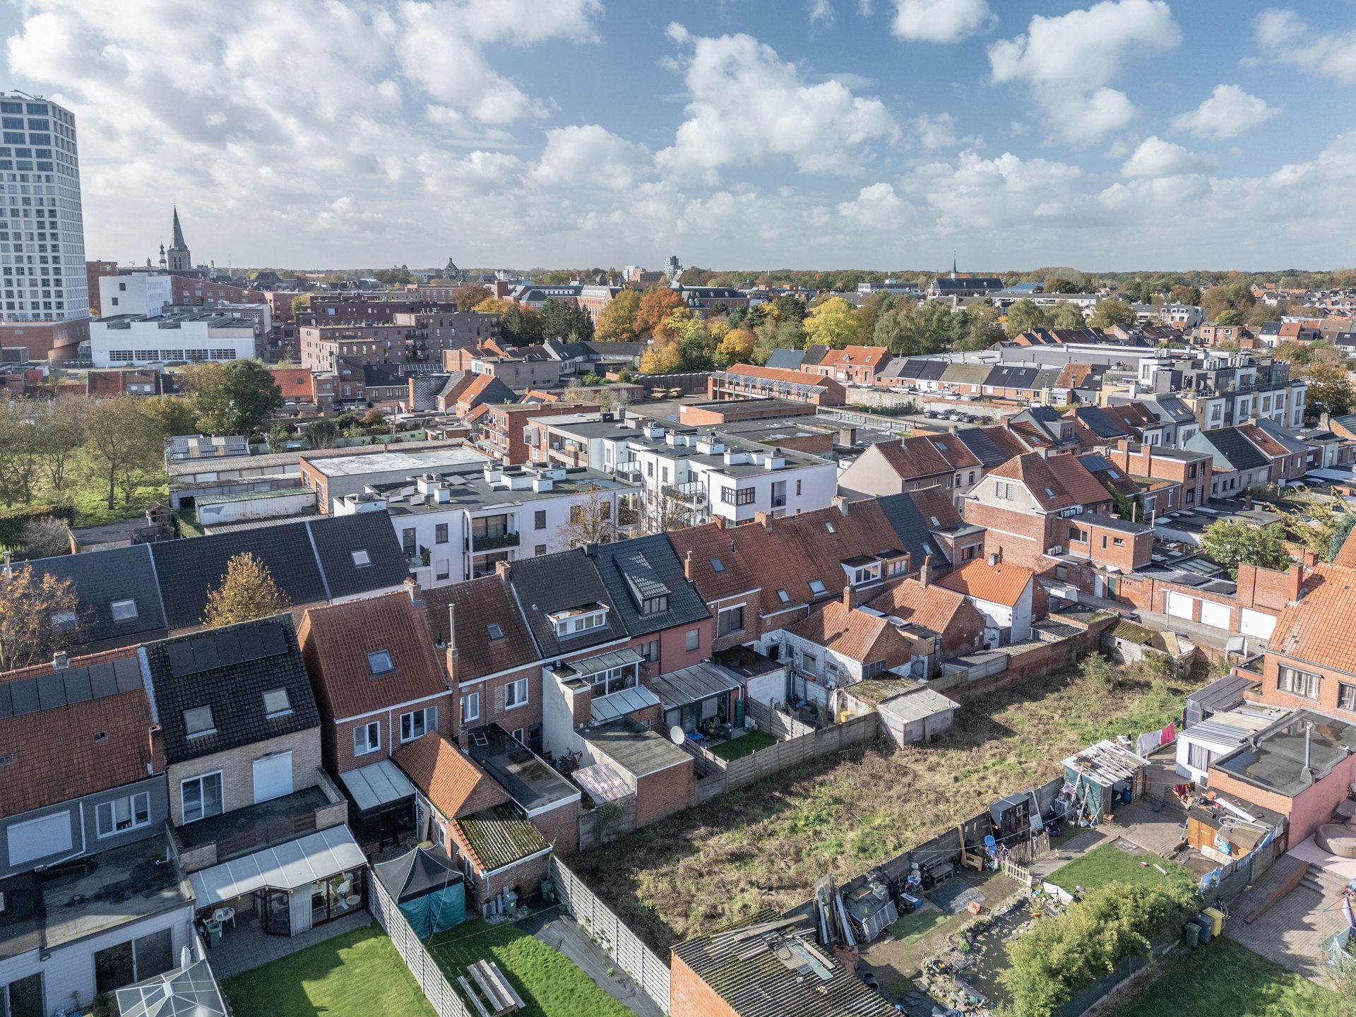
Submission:
<svg viewBox="0 0 1356 1017">
<path fill-rule="evenodd" d="M 618 544 L 601 544 L 593 552 L 593 559 L 632 636 L 711 617 L 701 594 L 683 575 L 678 552 L 663 533 Z M 669 610 L 640 613 L 644 597 L 664 593 L 669 594 Z"/>
</svg>

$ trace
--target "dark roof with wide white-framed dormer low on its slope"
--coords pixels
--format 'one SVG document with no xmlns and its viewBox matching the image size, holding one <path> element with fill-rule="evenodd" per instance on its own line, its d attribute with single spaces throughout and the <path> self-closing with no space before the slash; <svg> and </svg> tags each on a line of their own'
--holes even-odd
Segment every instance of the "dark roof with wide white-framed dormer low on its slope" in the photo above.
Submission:
<svg viewBox="0 0 1356 1017">
<path fill-rule="evenodd" d="M 572 654 L 626 636 L 626 626 L 612 594 L 607 593 L 593 559 L 584 555 L 582 548 L 514 561 L 510 582 L 533 639 L 545 658 Z M 607 605 L 607 624 L 593 632 L 556 639 L 556 629 L 546 614 L 590 603 Z"/>
</svg>

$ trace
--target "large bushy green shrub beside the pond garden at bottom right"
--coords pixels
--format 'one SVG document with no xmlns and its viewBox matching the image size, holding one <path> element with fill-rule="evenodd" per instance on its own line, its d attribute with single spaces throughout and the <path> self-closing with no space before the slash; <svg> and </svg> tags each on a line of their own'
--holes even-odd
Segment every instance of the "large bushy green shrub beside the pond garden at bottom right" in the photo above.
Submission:
<svg viewBox="0 0 1356 1017">
<path fill-rule="evenodd" d="M 998 978 L 1014 1017 L 1051 1017 L 1116 961 L 1150 952 L 1150 937 L 1195 907 L 1196 890 L 1182 873 L 1165 885 L 1108 883 L 1058 918 L 1037 921 L 1008 944 L 1009 967 Z"/>
</svg>

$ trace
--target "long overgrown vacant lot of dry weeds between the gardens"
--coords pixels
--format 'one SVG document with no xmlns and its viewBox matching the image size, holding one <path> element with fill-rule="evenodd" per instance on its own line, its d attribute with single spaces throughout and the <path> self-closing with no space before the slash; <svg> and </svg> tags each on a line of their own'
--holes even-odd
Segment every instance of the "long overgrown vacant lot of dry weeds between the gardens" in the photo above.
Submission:
<svg viewBox="0 0 1356 1017">
<path fill-rule="evenodd" d="M 1199 682 L 1090 658 L 957 711 L 937 742 L 816 759 L 571 860 L 660 951 L 810 899 L 989 803 L 1058 776 L 1075 749 L 1162 727 Z"/>
</svg>

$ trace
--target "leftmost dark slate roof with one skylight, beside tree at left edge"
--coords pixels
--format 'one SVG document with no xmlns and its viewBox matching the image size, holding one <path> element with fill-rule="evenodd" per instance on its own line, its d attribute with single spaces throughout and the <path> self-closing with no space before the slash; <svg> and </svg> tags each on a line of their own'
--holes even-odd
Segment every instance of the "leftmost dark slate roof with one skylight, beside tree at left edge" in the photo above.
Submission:
<svg viewBox="0 0 1356 1017">
<path fill-rule="evenodd" d="M 34 576 L 69 579 L 80 599 L 80 643 L 140 643 L 164 635 L 168 624 L 151 557 L 153 544 L 58 555 L 31 563 Z M 114 621 L 114 601 L 136 601 L 137 617 Z"/>
</svg>

